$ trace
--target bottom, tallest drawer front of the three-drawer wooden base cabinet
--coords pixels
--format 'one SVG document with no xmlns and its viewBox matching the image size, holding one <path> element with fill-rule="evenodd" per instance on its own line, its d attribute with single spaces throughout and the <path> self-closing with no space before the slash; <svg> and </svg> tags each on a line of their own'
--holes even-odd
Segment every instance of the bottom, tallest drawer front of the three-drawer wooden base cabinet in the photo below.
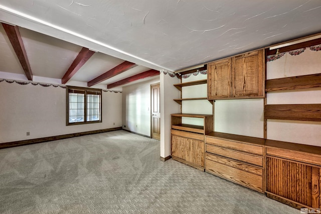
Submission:
<svg viewBox="0 0 321 214">
<path fill-rule="evenodd" d="M 238 183 L 245 187 L 263 192 L 263 178 L 231 166 L 206 159 L 205 170 L 219 177 Z"/>
</svg>

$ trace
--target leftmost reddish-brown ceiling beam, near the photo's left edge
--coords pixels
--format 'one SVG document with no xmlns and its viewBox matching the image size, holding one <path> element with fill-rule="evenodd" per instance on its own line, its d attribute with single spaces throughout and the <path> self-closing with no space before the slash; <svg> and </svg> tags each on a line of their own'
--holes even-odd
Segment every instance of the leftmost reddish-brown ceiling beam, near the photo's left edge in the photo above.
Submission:
<svg viewBox="0 0 321 214">
<path fill-rule="evenodd" d="M 26 54 L 26 49 L 24 42 L 22 41 L 21 34 L 18 26 L 12 26 L 5 23 L 1 23 L 4 27 L 7 36 L 14 48 L 16 55 L 20 61 L 20 64 L 28 78 L 28 80 L 33 80 L 33 74 L 30 68 L 29 60 Z"/>
</svg>

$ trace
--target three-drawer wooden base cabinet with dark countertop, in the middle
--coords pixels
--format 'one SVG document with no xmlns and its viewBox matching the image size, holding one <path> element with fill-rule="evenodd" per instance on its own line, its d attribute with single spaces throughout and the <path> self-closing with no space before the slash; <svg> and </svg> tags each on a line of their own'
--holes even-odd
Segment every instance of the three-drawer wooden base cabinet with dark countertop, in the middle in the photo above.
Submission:
<svg viewBox="0 0 321 214">
<path fill-rule="evenodd" d="M 264 139 L 212 132 L 205 142 L 207 172 L 264 193 Z"/>
</svg>

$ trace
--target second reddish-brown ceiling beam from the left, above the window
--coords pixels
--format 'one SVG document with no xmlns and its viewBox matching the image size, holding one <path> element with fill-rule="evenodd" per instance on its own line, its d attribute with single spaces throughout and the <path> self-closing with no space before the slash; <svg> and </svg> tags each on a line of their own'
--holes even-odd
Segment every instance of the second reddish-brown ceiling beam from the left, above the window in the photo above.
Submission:
<svg viewBox="0 0 321 214">
<path fill-rule="evenodd" d="M 66 84 L 72 76 L 94 55 L 94 51 L 90 51 L 88 48 L 82 48 L 74 62 L 68 68 L 67 72 L 61 79 L 62 84 Z"/>
</svg>

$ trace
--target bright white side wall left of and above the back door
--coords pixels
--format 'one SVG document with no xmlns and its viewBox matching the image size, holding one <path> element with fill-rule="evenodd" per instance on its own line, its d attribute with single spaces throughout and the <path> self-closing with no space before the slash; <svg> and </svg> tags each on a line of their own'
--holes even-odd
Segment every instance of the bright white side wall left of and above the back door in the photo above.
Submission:
<svg viewBox="0 0 321 214">
<path fill-rule="evenodd" d="M 150 85 L 155 83 L 159 83 L 159 77 L 123 87 L 123 129 L 150 137 Z"/>
</svg>

